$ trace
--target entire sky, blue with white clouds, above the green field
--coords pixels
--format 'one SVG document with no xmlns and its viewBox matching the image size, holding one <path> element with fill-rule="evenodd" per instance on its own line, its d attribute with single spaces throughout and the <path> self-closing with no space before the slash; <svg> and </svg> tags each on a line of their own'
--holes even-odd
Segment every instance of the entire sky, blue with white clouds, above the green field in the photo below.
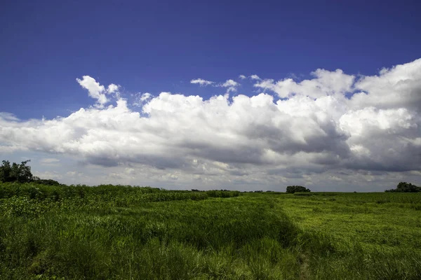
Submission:
<svg viewBox="0 0 421 280">
<path fill-rule="evenodd" d="M 0 159 L 69 184 L 420 186 L 420 9 L 8 1 Z"/>
</svg>

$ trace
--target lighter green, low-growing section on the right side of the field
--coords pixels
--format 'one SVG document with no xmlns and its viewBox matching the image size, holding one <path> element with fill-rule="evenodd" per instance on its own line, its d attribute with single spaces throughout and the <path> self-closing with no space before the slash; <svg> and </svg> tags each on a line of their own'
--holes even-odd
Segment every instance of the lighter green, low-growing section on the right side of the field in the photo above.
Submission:
<svg viewBox="0 0 421 280">
<path fill-rule="evenodd" d="M 382 203 L 379 203 L 382 202 Z M 420 279 L 421 193 L 279 196 L 307 279 Z"/>
</svg>

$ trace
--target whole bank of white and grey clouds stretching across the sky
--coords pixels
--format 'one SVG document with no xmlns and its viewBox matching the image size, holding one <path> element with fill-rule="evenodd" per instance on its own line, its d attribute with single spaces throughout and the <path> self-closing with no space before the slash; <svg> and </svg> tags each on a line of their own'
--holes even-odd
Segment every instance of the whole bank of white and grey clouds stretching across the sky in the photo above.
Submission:
<svg viewBox="0 0 421 280">
<path fill-rule="evenodd" d="M 116 182 L 142 176 L 180 184 L 353 186 L 417 176 L 420 61 L 376 76 L 318 69 L 309 80 L 257 81 L 255 87 L 276 97 L 142 93 L 135 94 L 140 111 L 119 98 L 51 120 L 0 113 L 0 151 L 66 155 L 108 167 L 114 175 L 104 178 Z M 90 95 L 105 94 L 89 76 L 78 82 Z M 239 86 L 234 80 L 216 85 Z"/>
</svg>

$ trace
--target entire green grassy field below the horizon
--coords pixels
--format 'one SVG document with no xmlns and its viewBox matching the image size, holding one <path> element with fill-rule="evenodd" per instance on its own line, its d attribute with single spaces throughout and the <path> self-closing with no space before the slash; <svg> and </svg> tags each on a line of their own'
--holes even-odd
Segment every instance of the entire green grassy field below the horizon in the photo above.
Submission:
<svg viewBox="0 0 421 280">
<path fill-rule="evenodd" d="M 421 193 L 0 183 L 0 279 L 421 279 Z"/>
</svg>

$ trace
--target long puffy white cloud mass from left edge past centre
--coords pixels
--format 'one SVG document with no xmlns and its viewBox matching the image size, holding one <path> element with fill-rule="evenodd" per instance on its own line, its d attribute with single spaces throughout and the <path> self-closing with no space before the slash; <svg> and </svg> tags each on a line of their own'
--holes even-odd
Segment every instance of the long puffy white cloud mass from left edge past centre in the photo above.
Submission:
<svg viewBox="0 0 421 280">
<path fill-rule="evenodd" d="M 277 165 L 302 151 L 347 153 L 343 142 L 335 142 L 344 135 L 328 119 L 290 116 L 268 94 L 239 95 L 229 104 L 222 96 L 203 100 L 163 92 L 142 111 L 148 116 L 120 99 L 117 106 L 81 109 L 67 118 L 9 123 L 1 142 L 75 155 L 95 165 L 136 162 L 157 168 L 189 167 L 194 158 Z"/>
</svg>

